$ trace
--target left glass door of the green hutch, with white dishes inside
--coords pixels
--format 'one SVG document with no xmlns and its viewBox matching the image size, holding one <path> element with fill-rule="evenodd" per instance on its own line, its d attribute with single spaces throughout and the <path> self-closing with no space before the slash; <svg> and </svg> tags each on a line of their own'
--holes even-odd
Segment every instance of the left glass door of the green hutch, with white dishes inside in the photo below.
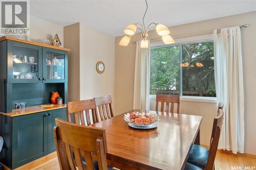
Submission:
<svg viewBox="0 0 256 170">
<path fill-rule="evenodd" d="M 35 83 L 41 78 L 41 47 L 13 42 L 12 82 Z"/>
</svg>

